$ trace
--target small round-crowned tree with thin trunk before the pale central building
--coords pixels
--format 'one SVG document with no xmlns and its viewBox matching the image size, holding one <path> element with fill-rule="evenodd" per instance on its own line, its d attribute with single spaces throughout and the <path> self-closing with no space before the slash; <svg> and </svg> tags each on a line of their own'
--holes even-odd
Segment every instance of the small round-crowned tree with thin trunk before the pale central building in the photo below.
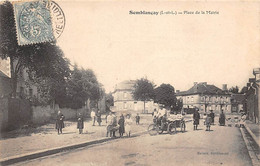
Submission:
<svg viewBox="0 0 260 166">
<path fill-rule="evenodd" d="M 140 100 L 144 102 L 144 111 L 145 113 L 145 102 L 151 99 L 154 99 L 154 84 L 146 78 L 141 78 L 136 80 L 134 86 L 133 97 L 135 100 Z"/>
</svg>

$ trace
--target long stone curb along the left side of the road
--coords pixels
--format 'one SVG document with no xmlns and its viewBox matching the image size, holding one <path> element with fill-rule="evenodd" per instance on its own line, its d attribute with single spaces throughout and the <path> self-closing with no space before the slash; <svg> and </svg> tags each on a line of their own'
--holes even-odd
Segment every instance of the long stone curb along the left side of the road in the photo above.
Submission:
<svg viewBox="0 0 260 166">
<path fill-rule="evenodd" d="M 146 133 L 146 132 L 147 131 L 137 132 L 137 133 L 133 133 L 132 135 L 140 136 L 141 134 Z M 26 154 L 22 154 L 22 155 L 7 157 L 7 158 L 0 159 L 0 165 L 4 166 L 4 165 L 15 164 L 15 163 L 22 162 L 22 161 L 27 161 L 27 160 L 44 157 L 44 156 L 53 155 L 53 154 L 63 152 L 63 151 L 68 151 L 68 150 L 77 149 L 77 148 L 81 148 L 81 147 L 87 147 L 90 145 L 100 144 L 103 142 L 113 141 L 118 138 L 119 137 L 117 137 L 117 138 L 104 137 L 104 138 L 100 138 L 100 139 L 90 140 L 88 142 L 71 144 L 71 145 L 56 147 L 56 148 L 52 148 L 52 149 L 39 150 L 39 151 L 32 152 L 32 153 L 26 153 Z"/>
</svg>

